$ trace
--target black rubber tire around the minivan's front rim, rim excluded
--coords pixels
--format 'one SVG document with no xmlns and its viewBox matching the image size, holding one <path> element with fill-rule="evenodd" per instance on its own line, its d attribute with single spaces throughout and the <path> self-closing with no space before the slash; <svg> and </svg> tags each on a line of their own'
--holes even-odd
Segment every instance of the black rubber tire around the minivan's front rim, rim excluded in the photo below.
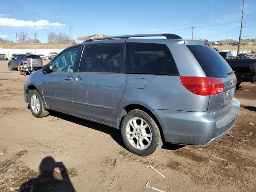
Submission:
<svg viewBox="0 0 256 192">
<path fill-rule="evenodd" d="M 31 98 L 33 95 L 36 95 L 39 100 L 40 109 L 39 109 L 38 113 L 35 113 L 31 106 Z M 29 94 L 28 94 L 28 99 L 29 99 L 29 108 L 30 108 L 30 111 L 32 112 L 33 116 L 35 116 L 37 118 L 41 118 L 41 117 L 46 117 L 49 115 L 49 112 L 46 109 L 44 109 L 44 103 L 42 102 L 42 98 L 37 90 L 30 90 Z"/>
</svg>

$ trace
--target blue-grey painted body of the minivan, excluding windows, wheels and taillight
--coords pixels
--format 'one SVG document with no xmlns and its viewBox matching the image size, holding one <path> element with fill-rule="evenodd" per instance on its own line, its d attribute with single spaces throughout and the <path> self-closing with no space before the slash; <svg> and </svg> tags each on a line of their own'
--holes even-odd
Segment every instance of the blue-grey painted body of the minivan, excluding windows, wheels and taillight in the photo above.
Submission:
<svg viewBox="0 0 256 192">
<path fill-rule="evenodd" d="M 166 44 L 179 74 L 127 74 L 124 47 L 120 73 L 78 71 L 82 50 L 87 45 L 125 45 L 126 42 Z M 224 92 L 220 94 L 200 96 L 188 91 L 182 86 L 180 76 L 207 75 L 185 42 L 204 46 L 200 41 L 170 39 L 121 39 L 84 43 L 80 45 L 81 51 L 72 73 L 46 74 L 39 70 L 30 75 L 24 85 L 25 100 L 28 102 L 26 93 L 29 86 L 33 85 L 42 96 L 46 109 L 117 129 L 127 113 L 126 108 L 137 105 L 150 111 L 159 122 L 166 142 L 192 146 L 210 144 L 229 132 L 237 121 L 239 102 L 234 98 L 236 76 L 232 74 L 222 78 Z M 50 62 L 58 59 L 63 52 L 65 50 Z M 65 80 L 67 77 L 70 80 Z"/>
</svg>

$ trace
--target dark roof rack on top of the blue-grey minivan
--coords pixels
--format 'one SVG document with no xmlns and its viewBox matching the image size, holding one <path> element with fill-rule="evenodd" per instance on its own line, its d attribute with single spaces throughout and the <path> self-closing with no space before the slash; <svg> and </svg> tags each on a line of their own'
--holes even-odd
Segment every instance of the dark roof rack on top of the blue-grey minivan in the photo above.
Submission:
<svg viewBox="0 0 256 192">
<path fill-rule="evenodd" d="M 166 37 L 167 39 L 182 39 L 182 37 L 170 34 L 170 33 L 163 33 L 163 34 L 137 34 L 137 35 L 122 35 L 122 36 L 109 36 L 109 37 L 102 37 L 102 38 L 94 38 L 94 39 L 88 39 L 85 42 L 91 42 L 96 40 L 106 40 L 106 39 L 128 39 L 130 37 Z"/>
</svg>

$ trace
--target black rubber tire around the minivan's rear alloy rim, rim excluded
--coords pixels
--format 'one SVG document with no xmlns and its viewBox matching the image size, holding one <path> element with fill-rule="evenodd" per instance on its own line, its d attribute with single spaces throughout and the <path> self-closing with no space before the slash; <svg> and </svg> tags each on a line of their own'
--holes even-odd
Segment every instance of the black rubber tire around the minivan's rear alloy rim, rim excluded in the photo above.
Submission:
<svg viewBox="0 0 256 192">
<path fill-rule="evenodd" d="M 149 146 L 145 149 L 137 149 L 136 147 L 132 146 L 132 144 L 128 140 L 128 136 L 126 136 L 127 135 L 126 134 L 126 125 L 128 124 L 128 122 L 132 118 L 141 118 L 141 119 L 143 119 L 148 124 L 149 129 L 151 130 L 151 134 L 152 134 L 151 142 L 150 142 Z M 161 135 L 160 135 L 160 130 L 159 130 L 156 122 L 152 119 L 152 117 L 150 115 L 148 115 L 146 112 L 144 112 L 142 110 L 135 109 L 135 110 L 132 110 L 132 111 L 128 112 L 128 114 L 126 114 L 124 116 L 124 118 L 122 120 L 122 125 L 121 125 L 121 133 L 122 133 L 122 139 L 123 139 L 124 144 L 126 145 L 126 147 L 132 153 L 134 153 L 138 156 L 148 156 L 148 155 L 152 154 L 153 152 L 155 152 L 156 150 L 158 150 L 159 148 L 161 148 L 162 144 L 163 144 L 162 143 L 162 138 L 161 138 Z M 133 139 L 133 141 L 136 142 L 138 140 Z"/>
</svg>

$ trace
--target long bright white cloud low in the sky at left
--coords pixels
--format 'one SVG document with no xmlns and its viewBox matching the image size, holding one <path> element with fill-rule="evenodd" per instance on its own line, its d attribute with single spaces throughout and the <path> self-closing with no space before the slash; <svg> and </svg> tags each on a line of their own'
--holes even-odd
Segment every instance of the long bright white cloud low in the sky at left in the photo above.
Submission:
<svg viewBox="0 0 256 192">
<path fill-rule="evenodd" d="M 48 20 L 38 20 L 38 21 L 24 21 L 14 18 L 2 18 L 0 17 L 0 27 L 28 27 L 28 28 L 44 28 L 48 26 L 62 27 L 66 24 L 62 23 L 50 23 Z"/>
</svg>

